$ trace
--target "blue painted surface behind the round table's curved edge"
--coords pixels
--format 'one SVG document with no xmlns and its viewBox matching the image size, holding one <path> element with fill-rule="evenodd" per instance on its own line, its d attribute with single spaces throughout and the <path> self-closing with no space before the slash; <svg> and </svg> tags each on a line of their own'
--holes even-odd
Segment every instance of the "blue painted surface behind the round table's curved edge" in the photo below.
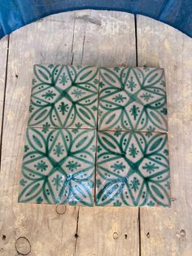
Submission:
<svg viewBox="0 0 192 256">
<path fill-rule="evenodd" d="M 46 15 L 81 9 L 146 15 L 192 37 L 192 0 L 0 0 L 0 38 Z"/>
</svg>

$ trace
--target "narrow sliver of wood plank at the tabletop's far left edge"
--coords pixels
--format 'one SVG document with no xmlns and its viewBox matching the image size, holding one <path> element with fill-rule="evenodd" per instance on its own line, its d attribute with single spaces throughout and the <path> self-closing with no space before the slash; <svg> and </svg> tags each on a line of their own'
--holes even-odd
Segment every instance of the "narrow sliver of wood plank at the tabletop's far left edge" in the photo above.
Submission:
<svg viewBox="0 0 192 256">
<path fill-rule="evenodd" d="M 7 68 L 7 47 L 8 37 L 0 40 L 0 135 L 2 134 L 2 114 L 5 94 L 5 81 L 6 81 L 6 68 Z M 0 144 L 2 143 L 2 137 L 0 136 Z"/>
</svg>

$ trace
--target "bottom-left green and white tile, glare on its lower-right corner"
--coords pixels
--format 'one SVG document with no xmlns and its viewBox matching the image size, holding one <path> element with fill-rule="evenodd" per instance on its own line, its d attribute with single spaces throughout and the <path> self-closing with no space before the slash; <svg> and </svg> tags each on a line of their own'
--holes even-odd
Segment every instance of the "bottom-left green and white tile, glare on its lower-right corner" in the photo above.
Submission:
<svg viewBox="0 0 192 256">
<path fill-rule="evenodd" d="M 94 130 L 28 128 L 20 202 L 94 205 Z"/>
</svg>

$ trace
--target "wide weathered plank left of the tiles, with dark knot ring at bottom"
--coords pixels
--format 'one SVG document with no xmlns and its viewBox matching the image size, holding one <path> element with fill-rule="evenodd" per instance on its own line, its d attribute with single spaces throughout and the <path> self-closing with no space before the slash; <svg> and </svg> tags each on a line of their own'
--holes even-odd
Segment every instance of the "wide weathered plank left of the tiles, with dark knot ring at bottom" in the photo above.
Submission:
<svg viewBox="0 0 192 256">
<path fill-rule="evenodd" d="M 73 24 L 72 12 L 53 15 L 10 37 L 0 176 L 3 255 L 16 255 L 16 250 L 25 255 L 30 247 L 30 255 L 74 254 L 76 208 L 67 207 L 62 214 L 64 206 L 57 211 L 55 205 L 17 203 L 33 64 L 71 64 Z"/>
</svg>

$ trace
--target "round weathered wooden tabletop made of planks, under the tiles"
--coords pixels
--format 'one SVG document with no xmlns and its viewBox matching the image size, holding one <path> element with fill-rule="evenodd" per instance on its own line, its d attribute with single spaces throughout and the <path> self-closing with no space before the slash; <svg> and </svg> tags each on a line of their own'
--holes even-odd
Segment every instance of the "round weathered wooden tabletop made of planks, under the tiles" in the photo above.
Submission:
<svg viewBox="0 0 192 256">
<path fill-rule="evenodd" d="M 17 203 L 33 64 L 165 68 L 170 209 Z M 3 38 L 0 73 L 0 255 L 192 255 L 191 38 L 141 15 L 72 11 Z"/>
</svg>

